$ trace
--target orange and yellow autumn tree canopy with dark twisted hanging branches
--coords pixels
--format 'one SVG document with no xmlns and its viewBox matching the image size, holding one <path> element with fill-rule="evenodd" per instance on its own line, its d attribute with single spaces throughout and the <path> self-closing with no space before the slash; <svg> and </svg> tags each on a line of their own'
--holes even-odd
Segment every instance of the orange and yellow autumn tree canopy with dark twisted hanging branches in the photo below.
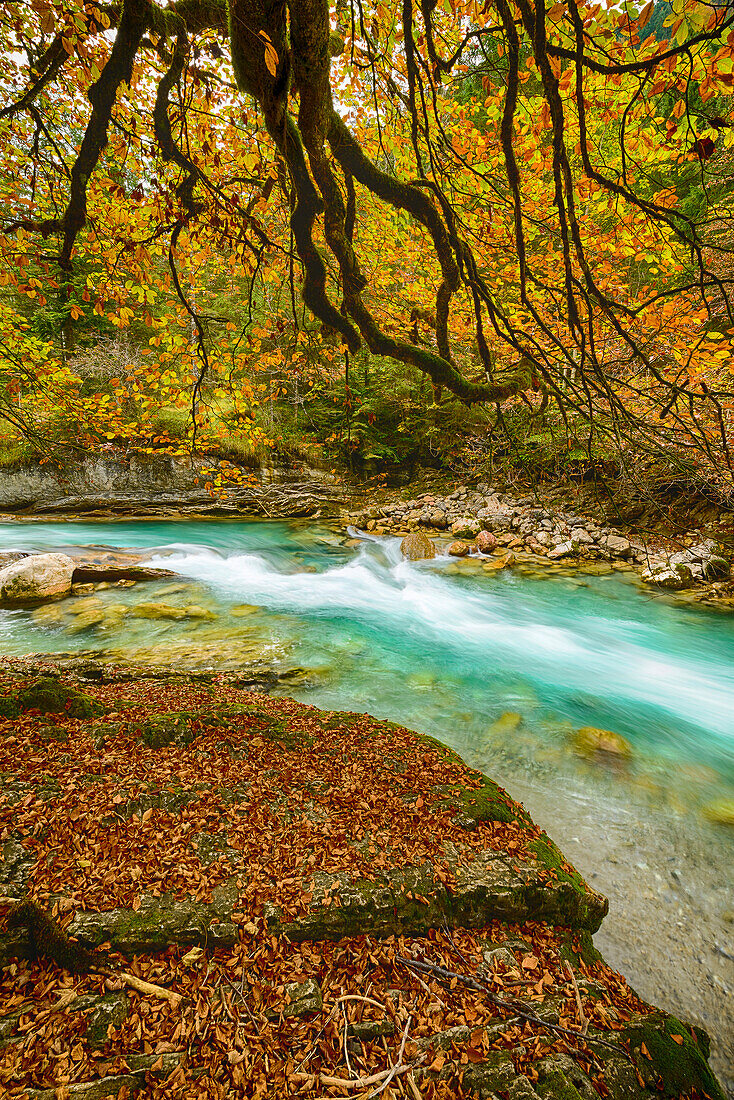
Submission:
<svg viewBox="0 0 734 1100">
<path fill-rule="evenodd" d="M 7 422 L 31 433 L 73 392 L 68 415 L 94 406 L 113 438 L 125 403 L 185 377 L 195 420 L 212 378 L 247 416 L 255 355 L 287 384 L 307 346 L 366 349 L 437 399 L 550 403 L 731 485 L 731 0 L 7 0 L 0 19 Z M 124 328 L 147 358 L 85 394 L 72 350 Z"/>
</svg>

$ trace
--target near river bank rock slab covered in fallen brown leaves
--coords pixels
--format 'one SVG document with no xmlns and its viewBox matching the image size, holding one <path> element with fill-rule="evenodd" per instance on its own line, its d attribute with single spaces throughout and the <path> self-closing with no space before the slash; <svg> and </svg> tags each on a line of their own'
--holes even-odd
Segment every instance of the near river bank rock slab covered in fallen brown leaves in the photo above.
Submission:
<svg viewBox="0 0 734 1100">
<path fill-rule="evenodd" d="M 438 743 L 226 676 L 0 688 L 6 908 L 111 952 L 72 977 L 6 933 L 10 1096 L 723 1096 L 594 953 L 605 900 Z"/>
</svg>

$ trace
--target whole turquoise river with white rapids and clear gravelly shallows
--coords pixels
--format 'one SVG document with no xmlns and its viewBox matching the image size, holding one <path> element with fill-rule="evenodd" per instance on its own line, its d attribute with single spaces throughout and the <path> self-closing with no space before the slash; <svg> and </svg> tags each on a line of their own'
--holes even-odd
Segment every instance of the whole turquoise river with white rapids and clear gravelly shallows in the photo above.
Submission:
<svg viewBox="0 0 734 1100">
<path fill-rule="evenodd" d="M 0 525 L 0 550 L 92 543 L 150 548 L 180 580 L 0 610 L 0 652 L 267 661 L 306 702 L 439 737 L 610 894 L 598 936 L 610 960 L 725 1036 L 733 831 L 710 818 L 734 799 L 734 616 L 656 596 L 632 574 L 408 563 L 397 539 L 306 524 Z M 624 737 L 629 759 L 581 754 L 584 726 Z"/>
</svg>

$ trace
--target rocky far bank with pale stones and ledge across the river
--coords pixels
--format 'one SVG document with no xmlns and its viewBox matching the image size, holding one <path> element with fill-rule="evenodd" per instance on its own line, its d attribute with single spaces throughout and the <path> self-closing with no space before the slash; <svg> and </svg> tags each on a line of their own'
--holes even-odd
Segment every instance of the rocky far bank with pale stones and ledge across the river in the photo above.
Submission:
<svg viewBox="0 0 734 1100">
<path fill-rule="evenodd" d="M 215 485 L 216 483 L 216 485 Z M 690 528 L 671 525 L 664 509 L 644 520 L 610 526 L 613 502 L 601 506 L 587 486 L 539 486 L 532 492 L 476 480 L 457 484 L 424 472 L 399 491 L 355 483 L 319 469 L 272 466 L 222 471 L 191 457 L 109 453 L 69 466 L 20 466 L 0 481 L 0 520 L 120 518 L 321 518 L 374 535 L 423 530 L 451 543 L 457 557 L 475 552 L 478 535 L 494 565 L 538 565 L 558 572 L 590 565 L 632 569 L 653 591 L 734 607 L 734 516 L 708 506 Z M 629 515 L 635 507 L 627 506 Z M 624 509 L 620 509 L 620 519 Z M 654 516 L 653 520 L 650 517 Z M 704 518 L 702 518 L 704 517 Z M 705 521 L 704 521 L 705 520 Z M 640 522 L 643 520 L 640 519 Z M 486 534 L 485 534 L 486 532 Z M 461 544 L 467 547 L 461 549 Z"/>
</svg>

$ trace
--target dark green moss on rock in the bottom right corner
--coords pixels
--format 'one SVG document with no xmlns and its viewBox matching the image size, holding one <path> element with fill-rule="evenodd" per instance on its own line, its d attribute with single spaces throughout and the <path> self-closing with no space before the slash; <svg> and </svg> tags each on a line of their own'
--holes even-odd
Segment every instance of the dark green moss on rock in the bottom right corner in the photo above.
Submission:
<svg viewBox="0 0 734 1100">
<path fill-rule="evenodd" d="M 698 1089 L 709 1100 L 724 1100 L 721 1086 L 708 1065 L 709 1036 L 702 1028 L 656 1013 L 626 1027 L 622 1035 L 634 1053 L 640 1053 L 645 1044 L 651 1062 L 643 1056 L 637 1064 L 643 1074 L 651 1065 L 659 1075 L 657 1084 L 662 1096 L 678 1098 Z"/>
</svg>

